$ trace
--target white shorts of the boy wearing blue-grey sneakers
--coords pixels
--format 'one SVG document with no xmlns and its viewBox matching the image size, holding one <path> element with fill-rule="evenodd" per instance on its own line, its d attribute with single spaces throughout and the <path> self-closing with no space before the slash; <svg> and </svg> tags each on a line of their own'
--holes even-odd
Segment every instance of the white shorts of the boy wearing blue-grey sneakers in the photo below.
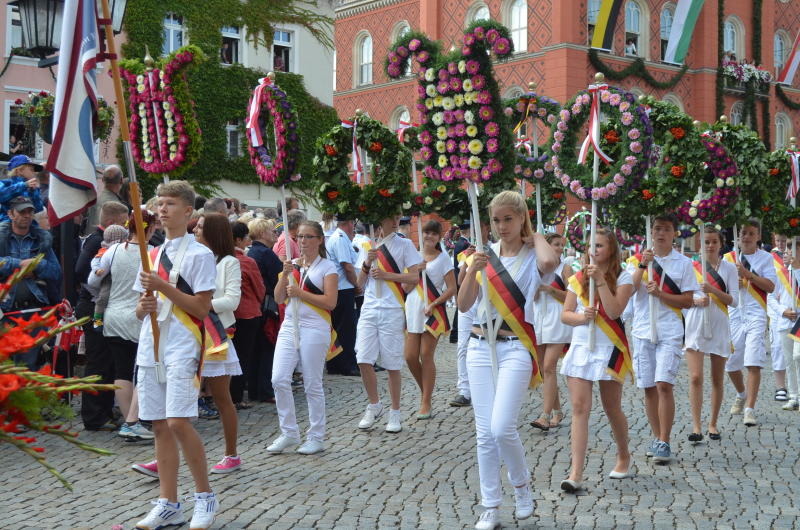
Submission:
<svg viewBox="0 0 800 530">
<path fill-rule="evenodd" d="M 662 339 L 656 343 L 633 337 L 633 373 L 638 388 L 652 388 L 656 383 L 675 384 L 681 365 L 681 339 Z"/>
</svg>

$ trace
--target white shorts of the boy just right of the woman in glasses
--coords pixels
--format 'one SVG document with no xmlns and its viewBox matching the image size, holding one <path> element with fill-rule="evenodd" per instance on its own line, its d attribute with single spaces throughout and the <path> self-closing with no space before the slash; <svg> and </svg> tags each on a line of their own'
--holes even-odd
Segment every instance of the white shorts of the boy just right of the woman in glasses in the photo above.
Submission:
<svg viewBox="0 0 800 530">
<path fill-rule="evenodd" d="M 402 369 L 405 324 L 405 311 L 399 307 L 362 309 L 356 328 L 356 362 Z"/>
</svg>

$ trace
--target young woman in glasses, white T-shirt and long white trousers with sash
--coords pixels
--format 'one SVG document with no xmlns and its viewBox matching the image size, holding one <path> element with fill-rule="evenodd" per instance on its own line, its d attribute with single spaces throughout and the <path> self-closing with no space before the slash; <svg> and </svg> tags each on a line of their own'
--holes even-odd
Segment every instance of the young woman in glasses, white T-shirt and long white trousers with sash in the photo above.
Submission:
<svg viewBox="0 0 800 530">
<path fill-rule="evenodd" d="M 284 262 L 283 273 L 275 286 L 275 300 L 279 304 L 287 304 L 287 317 L 278 332 L 272 366 L 272 386 L 275 389 L 281 435 L 267 447 L 267 451 L 282 453 L 300 444 L 292 396 L 292 373 L 300 362 L 308 401 L 309 427 L 306 442 L 297 452 L 313 455 L 325 450 L 322 374 L 325 371 L 325 357 L 331 346 L 331 311 L 336 307 L 339 278 L 336 265 L 326 259 L 325 234 L 319 223 L 300 223 L 297 240 L 300 257 Z M 296 281 L 290 282 L 290 277 Z M 293 304 L 299 304 L 297 323 L 288 316 L 292 314 Z M 302 333 L 298 332 L 295 325 L 302 329 Z"/>
</svg>

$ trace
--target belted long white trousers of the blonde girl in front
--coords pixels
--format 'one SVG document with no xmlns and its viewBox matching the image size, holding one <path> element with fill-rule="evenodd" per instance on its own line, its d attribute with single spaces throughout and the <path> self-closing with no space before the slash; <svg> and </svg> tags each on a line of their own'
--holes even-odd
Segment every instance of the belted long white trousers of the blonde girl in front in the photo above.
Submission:
<svg viewBox="0 0 800 530">
<path fill-rule="evenodd" d="M 505 463 L 512 486 L 528 484 L 530 474 L 525 448 L 517 432 L 517 418 L 527 399 L 531 380 L 531 354 L 518 340 L 497 342 L 498 378 L 495 386 L 489 345 L 471 338 L 467 371 L 478 444 L 481 504 L 500 506 L 500 465 Z"/>
</svg>

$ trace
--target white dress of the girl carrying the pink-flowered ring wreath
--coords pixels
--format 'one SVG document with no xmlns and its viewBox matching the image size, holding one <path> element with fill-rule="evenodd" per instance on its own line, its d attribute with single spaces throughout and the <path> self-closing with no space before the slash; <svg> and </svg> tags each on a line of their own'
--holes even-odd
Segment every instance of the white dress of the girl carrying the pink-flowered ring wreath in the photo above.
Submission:
<svg viewBox="0 0 800 530">
<path fill-rule="evenodd" d="M 617 289 L 623 285 L 633 285 L 633 278 L 625 270 L 617 277 Z M 567 290 L 575 292 L 572 286 L 569 286 Z M 584 309 L 585 306 L 578 297 L 575 312 L 583 314 Z M 589 325 L 581 324 L 574 327 L 572 344 L 566 357 L 561 361 L 562 375 L 578 377 L 587 381 L 614 381 L 614 378 L 606 370 L 611 354 L 614 352 L 614 343 L 597 326 L 595 326 L 594 336 L 594 350 L 589 350 Z"/>
</svg>

